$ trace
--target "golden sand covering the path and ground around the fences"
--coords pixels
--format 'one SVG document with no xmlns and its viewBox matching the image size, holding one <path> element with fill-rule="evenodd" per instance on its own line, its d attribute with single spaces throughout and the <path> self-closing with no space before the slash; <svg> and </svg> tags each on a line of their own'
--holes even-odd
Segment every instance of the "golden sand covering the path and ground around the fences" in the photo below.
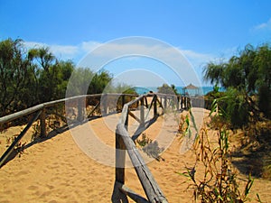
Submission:
<svg viewBox="0 0 271 203">
<path fill-rule="evenodd" d="M 205 110 L 202 112 L 196 109 L 196 112 L 208 115 Z M 103 118 L 85 124 L 89 125 L 98 138 L 108 146 L 105 158 L 101 156 L 98 161 L 94 160 L 91 154 L 90 157 L 88 155 L 88 151 L 91 151 L 88 146 L 77 144 L 76 137 L 73 137 L 74 132 L 79 131 L 82 126 L 75 127 L 71 132 L 57 134 L 41 143 L 35 143 L 25 149 L 20 158 L 15 157 L 0 169 L 0 202 L 111 202 L 115 181 L 115 169 L 110 165 L 114 163 L 115 157 L 112 150 L 115 145 L 112 126 L 117 120 L 117 115 L 110 116 L 113 117 L 107 119 L 112 119 L 112 123 L 107 122 L 107 125 Z M 130 120 L 130 131 L 133 131 L 132 126 L 135 122 L 133 118 Z M 7 131 L 5 134 L 11 133 Z M 161 155 L 164 161 L 148 162 L 154 179 L 164 191 L 168 201 L 192 202 L 192 189 L 187 189 L 190 182 L 176 171 L 184 172 L 184 167 L 191 166 L 195 157 L 192 151 L 183 150 L 185 141 L 177 134 L 175 117 L 159 117 L 145 134 L 153 140 L 157 138 L 157 134 L 169 137 L 168 143 L 167 139 L 164 143 L 158 142 L 161 146 L 163 144 L 168 146 Z M 1 140 L 1 146 L 5 145 L 4 141 Z M 185 145 L 187 146 L 187 143 Z M 103 154 L 102 151 L 100 153 Z M 103 159 L 113 160 L 105 164 Z M 240 174 L 240 178 L 246 177 Z M 244 182 L 240 180 L 240 184 Z M 133 168 L 126 169 L 126 186 L 145 197 Z M 271 181 L 256 179 L 250 194 L 251 202 L 256 202 L 256 193 L 259 193 L 263 202 L 270 202 Z"/>
</svg>

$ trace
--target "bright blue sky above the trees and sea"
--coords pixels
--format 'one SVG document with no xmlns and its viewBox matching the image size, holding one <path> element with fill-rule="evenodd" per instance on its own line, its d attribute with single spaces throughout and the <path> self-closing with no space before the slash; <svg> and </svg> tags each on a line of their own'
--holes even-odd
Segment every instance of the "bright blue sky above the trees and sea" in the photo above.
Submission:
<svg viewBox="0 0 271 203">
<path fill-rule="evenodd" d="M 0 0 L 0 40 L 21 38 L 27 47 L 49 46 L 62 60 L 78 63 L 105 42 L 150 37 L 182 51 L 202 81 L 202 69 L 210 60 L 228 59 L 248 43 L 271 41 L 270 7 L 269 0 Z M 130 61 L 113 62 L 110 71 L 117 76 Z M 136 67 L 137 62 L 129 69 L 145 69 Z M 183 84 L 167 71 L 157 71 L 163 69 L 159 65 L 146 64 L 168 83 Z"/>
</svg>

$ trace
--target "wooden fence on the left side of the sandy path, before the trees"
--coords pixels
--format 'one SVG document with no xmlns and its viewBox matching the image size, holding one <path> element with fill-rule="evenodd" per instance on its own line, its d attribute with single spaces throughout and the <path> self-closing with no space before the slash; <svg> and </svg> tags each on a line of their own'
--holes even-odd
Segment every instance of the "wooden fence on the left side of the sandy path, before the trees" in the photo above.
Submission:
<svg viewBox="0 0 271 203">
<path fill-rule="evenodd" d="M 41 132 L 40 132 L 40 136 L 41 137 L 46 137 L 47 136 L 47 123 L 46 123 L 46 118 L 48 117 L 48 115 L 56 115 L 61 117 L 62 120 L 66 119 L 68 121 L 66 121 L 66 123 L 79 123 L 79 122 L 83 122 L 84 120 L 87 120 L 89 118 L 91 118 L 91 114 L 93 114 L 93 112 L 95 110 L 98 110 L 100 112 L 105 112 L 105 114 L 107 113 L 107 110 L 104 109 L 100 109 L 100 98 L 101 97 L 119 97 L 119 102 L 121 104 L 119 104 L 119 109 L 122 109 L 122 106 L 125 105 L 126 102 L 126 98 L 128 98 L 128 100 L 132 100 L 134 97 L 137 97 L 137 95 L 130 95 L 130 94 L 97 94 L 97 95 L 82 95 L 82 96 L 77 96 L 77 97 L 68 97 L 68 98 L 63 98 L 63 99 L 59 99 L 59 100 L 55 100 L 55 101 L 51 101 L 51 102 L 46 102 L 43 103 L 41 105 L 37 105 L 37 106 L 33 106 L 30 108 L 27 108 L 23 111 L 19 111 L 16 112 L 12 115 L 5 115 L 3 117 L 0 117 L 0 131 L 5 129 L 5 125 L 8 123 L 12 123 L 14 122 L 14 120 L 16 119 L 20 119 L 20 118 L 25 118 L 26 116 L 31 116 L 33 115 L 33 118 L 27 123 L 26 127 L 24 127 L 23 131 L 21 132 L 21 134 L 19 134 L 15 139 L 14 142 L 11 143 L 11 145 L 7 148 L 7 150 L 2 154 L 2 156 L 0 157 L 0 167 L 2 167 L 5 164 L 5 161 L 8 159 L 9 155 L 11 152 L 13 152 L 14 150 L 14 146 L 19 143 L 24 134 L 26 134 L 27 130 L 31 127 L 31 125 L 33 125 L 33 123 L 36 120 L 40 120 L 40 126 L 41 126 Z M 90 112 L 89 115 L 86 115 L 86 106 L 88 106 L 88 100 L 93 100 L 96 99 L 98 100 L 97 105 L 92 109 L 92 111 Z M 57 106 L 59 105 L 64 105 L 66 104 L 66 106 L 71 106 L 71 107 L 76 107 L 77 108 L 77 117 L 76 119 L 69 120 L 69 117 L 67 116 L 67 111 L 69 109 L 64 109 L 62 114 L 58 114 L 55 111 L 51 111 L 51 109 L 57 109 Z M 107 106 L 103 106 L 103 107 L 107 107 Z M 116 109 L 117 111 L 117 109 Z"/>
</svg>

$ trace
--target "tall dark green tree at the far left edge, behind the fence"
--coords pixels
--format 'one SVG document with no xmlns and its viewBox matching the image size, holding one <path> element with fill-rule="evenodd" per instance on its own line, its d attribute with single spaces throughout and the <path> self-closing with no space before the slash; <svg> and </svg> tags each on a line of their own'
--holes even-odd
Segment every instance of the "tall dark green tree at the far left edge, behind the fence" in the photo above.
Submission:
<svg viewBox="0 0 271 203">
<path fill-rule="evenodd" d="M 0 42 L 0 115 L 7 115 L 24 107 L 22 94 L 33 74 L 21 40 Z"/>
</svg>

